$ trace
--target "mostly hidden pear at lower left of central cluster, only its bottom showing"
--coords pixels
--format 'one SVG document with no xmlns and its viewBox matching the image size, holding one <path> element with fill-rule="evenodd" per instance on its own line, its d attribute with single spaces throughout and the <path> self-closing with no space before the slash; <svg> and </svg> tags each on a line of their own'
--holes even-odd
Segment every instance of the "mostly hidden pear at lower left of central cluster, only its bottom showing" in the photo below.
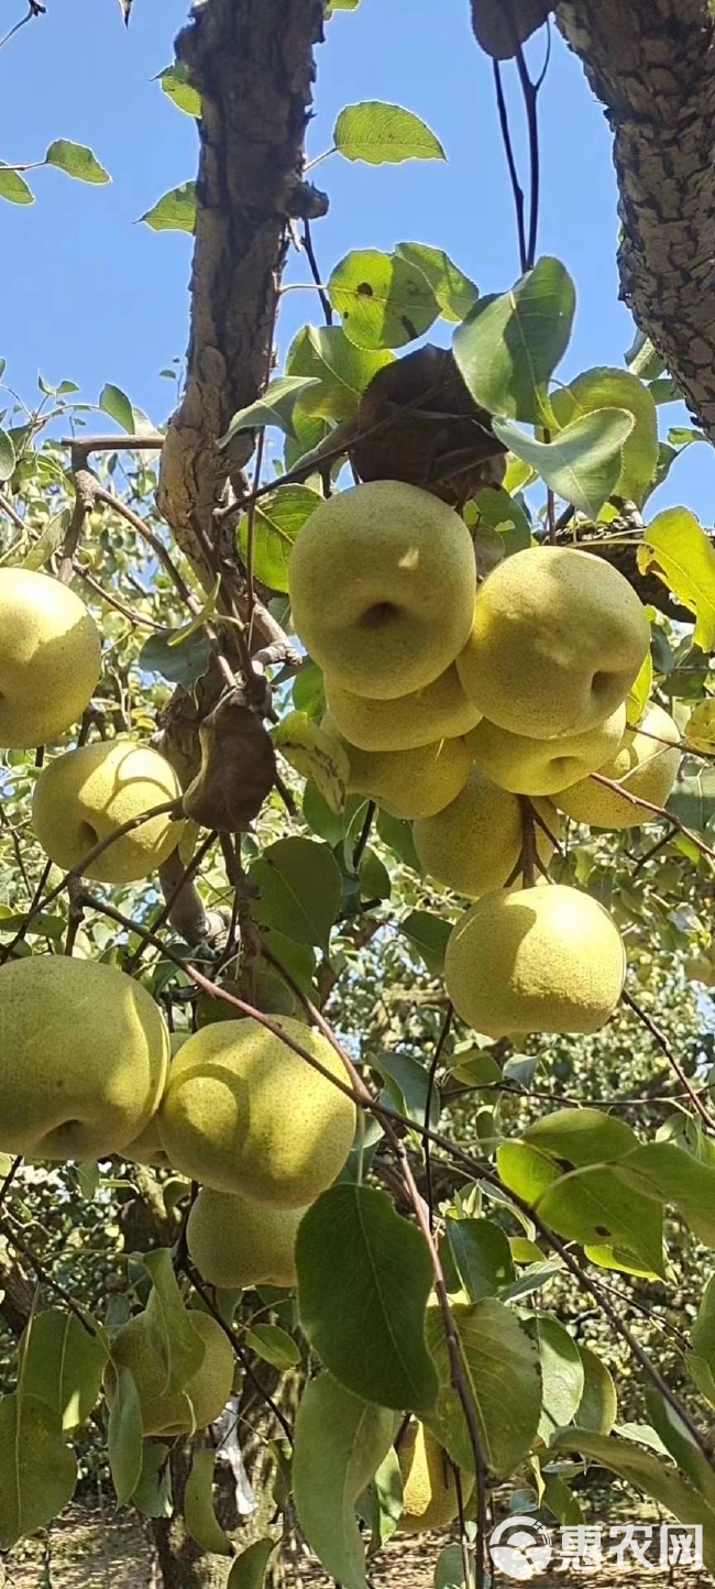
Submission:
<svg viewBox="0 0 715 1589">
<path fill-rule="evenodd" d="M 358 750 L 348 745 L 350 794 L 367 794 L 391 817 L 434 817 L 464 788 L 472 756 L 464 739 L 439 739 L 415 750 Z"/>
</svg>

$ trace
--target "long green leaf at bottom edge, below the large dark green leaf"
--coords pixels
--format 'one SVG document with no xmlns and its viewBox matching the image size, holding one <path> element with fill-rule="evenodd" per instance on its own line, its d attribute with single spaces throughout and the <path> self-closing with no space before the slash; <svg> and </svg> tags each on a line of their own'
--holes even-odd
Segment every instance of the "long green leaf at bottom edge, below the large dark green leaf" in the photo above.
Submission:
<svg viewBox="0 0 715 1589">
<path fill-rule="evenodd" d="M 354 1508 L 386 1457 L 396 1417 L 330 1374 L 303 1390 L 296 1419 L 292 1486 L 302 1533 L 343 1589 L 365 1589 L 365 1551 Z"/>
</svg>

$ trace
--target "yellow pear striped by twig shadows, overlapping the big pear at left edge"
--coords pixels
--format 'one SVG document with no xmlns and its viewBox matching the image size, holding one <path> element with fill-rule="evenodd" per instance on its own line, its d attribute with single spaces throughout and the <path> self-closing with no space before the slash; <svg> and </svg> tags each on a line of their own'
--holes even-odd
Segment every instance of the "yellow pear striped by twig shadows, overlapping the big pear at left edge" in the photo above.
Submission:
<svg viewBox="0 0 715 1589">
<path fill-rule="evenodd" d="M 335 1049 L 289 1015 L 273 1017 L 340 1082 Z M 203 1026 L 172 1063 L 159 1115 L 175 1170 L 216 1192 L 272 1208 L 307 1208 L 340 1174 L 356 1109 L 253 1017 Z"/>
</svg>

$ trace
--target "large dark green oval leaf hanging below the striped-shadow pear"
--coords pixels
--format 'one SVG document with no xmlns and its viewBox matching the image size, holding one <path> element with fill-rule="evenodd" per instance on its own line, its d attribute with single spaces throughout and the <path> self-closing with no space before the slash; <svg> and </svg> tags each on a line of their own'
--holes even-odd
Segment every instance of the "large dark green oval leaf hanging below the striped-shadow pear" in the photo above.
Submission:
<svg viewBox="0 0 715 1589">
<path fill-rule="evenodd" d="M 424 1344 L 432 1263 L 389 1197 L 330 1187 L 300 1222 L 296 1265 L 300 1324 L 326 1368 L 369 1401 L 429 1409 L 437 1395 Z"/>
</svg>

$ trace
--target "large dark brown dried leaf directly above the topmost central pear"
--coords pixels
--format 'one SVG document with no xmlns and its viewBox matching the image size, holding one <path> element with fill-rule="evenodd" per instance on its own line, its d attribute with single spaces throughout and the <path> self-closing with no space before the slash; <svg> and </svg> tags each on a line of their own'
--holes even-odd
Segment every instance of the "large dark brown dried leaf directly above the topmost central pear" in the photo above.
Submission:
<svg viewBox="0 0 715 1589">
<path fill-rule="evenodd" d="M 378 370 L 358 423 L 350 461 L 361 480 L 405 480 L 461 507 L 504 478 L 505 447 L 446 348 L 427 343 Z"/>
</svg>

